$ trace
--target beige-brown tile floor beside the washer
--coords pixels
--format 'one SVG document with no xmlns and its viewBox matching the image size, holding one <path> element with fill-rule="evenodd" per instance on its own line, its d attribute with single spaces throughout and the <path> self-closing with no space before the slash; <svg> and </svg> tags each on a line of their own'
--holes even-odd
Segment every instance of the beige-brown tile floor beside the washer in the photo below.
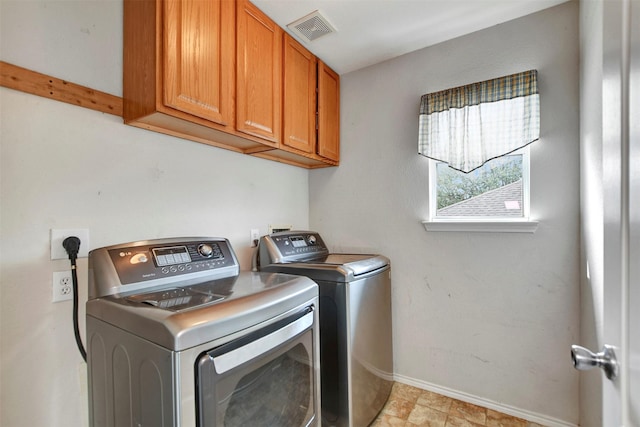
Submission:
<svg viewBox="0 0 640 427">
<path fill-rule="evenodd" d="M 391 396 L 371 427 L 544 427 L 406 384 Z"/>
</svg>

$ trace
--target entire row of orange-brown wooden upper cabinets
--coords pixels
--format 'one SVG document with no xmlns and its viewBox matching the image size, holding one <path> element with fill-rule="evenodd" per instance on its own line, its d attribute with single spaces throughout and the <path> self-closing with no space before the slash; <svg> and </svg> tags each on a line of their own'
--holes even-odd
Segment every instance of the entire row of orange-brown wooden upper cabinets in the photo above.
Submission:
<svg viewBox="0 0 640 427">
<path fill-rule="evenodd" d="M 338 164 L 338 76 L 248 0 L 124 0 L 123 29 L 126 124 L 306 168 Z"/>
</svg>

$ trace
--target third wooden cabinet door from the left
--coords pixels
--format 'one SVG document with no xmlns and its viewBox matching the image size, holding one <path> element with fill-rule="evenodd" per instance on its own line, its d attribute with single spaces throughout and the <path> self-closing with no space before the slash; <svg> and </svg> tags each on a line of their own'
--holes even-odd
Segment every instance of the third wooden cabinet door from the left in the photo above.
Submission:
<svg viewBox="0 0 640 427">
<path fill-rule="evenodd" d="M 283 140 L 285 146 L 315 153 L 316 57 L 284 35 Z"/>
</svg>

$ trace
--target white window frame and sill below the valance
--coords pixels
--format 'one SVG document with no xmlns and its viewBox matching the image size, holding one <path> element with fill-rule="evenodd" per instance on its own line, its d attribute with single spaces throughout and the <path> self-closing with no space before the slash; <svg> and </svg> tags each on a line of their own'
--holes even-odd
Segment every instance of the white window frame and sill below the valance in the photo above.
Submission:
<svg viewBox="0 0 640 427">
<path fill-rule="evenodd" d="M 522 155 L 522 217 L 437 216 L 438 160 L 429 159 L 429 219 L 423 221 L 427 231 L 516 232 L 534 233 L 538 222 L 531 219 L 531 153 L 527 145 L 513 154 Z"/>
</svg>

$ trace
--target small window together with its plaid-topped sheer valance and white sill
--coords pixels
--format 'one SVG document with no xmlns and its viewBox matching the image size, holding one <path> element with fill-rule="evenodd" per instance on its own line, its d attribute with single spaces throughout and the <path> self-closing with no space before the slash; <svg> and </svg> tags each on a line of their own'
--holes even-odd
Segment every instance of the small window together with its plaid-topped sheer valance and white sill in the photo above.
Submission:
<svg viewBox="0 0 640 427">
<path fill-rule="evenodd" d="M 535 231 L 529 144 L 539 132 L 536 70 L 423 95 L 418 153 L 431 159 L 427 230 Z"/>
</svg>

